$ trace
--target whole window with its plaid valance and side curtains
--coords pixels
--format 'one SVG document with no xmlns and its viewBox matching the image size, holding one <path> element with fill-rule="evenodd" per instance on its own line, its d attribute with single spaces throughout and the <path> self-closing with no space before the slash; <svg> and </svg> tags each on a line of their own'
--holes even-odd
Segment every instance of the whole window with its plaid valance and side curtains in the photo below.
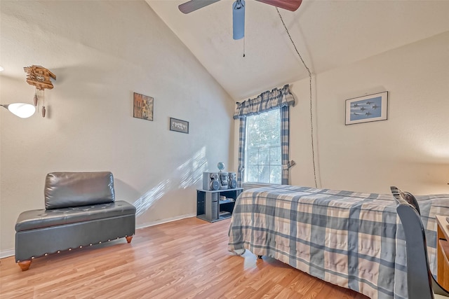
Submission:
<svg viewBox="0 0 449 299">
<path fill-rule="evenodd" d="M 240 119 L 237 186 L 288 185 L 288 168 L 295 165 L 289 154 L 293 104 L 295 98 L 288 84 L 236 103 L 234 119 Z"/>
</svg>

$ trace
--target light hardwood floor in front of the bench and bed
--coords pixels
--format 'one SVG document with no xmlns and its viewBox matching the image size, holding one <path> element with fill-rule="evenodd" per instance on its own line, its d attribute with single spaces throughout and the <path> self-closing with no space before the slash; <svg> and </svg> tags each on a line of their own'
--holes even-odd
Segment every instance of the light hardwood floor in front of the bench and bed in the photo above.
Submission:
<svg viewBox="0 0 449 299">
<path fill-rule="evenodd" d="M 22 272 L 0 260 L 0 298 L 358 298 L 250 252 L 227 251 L 230 220 L 187 218 L 119 239 L 33 260 Z"/>
</svg>

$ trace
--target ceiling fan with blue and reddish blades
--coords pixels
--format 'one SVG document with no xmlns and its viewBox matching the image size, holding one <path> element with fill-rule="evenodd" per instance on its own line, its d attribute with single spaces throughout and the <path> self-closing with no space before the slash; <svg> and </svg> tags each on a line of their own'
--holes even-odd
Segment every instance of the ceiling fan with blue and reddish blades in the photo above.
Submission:
<svg viewBox="0 0 449 299">
<path fill-rule="evenodd" d="M 180 4 L 177 8 L 182 13 L 192 13 L 199 8 L 208 6 L 220 0 L 190 0 Z M 300 7 L 302 0 L 256 0 L 272 6 L 296 11 Z M 245 36 L 245 0 L 236 0 L 232 4 L 232 38 L 242 39 Z"/>
</svg>

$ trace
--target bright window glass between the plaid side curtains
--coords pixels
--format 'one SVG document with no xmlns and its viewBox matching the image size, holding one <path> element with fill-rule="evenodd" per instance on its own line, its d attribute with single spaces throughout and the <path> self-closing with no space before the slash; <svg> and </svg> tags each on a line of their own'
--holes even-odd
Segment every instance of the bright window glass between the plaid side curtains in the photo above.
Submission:
<svg viewBox="0 0 449 299">
<path fill-rule="evenodd" d="M 245 182 L 280 184 L 281 112 L 273 109 L 246 118 Z"/>
</svg>

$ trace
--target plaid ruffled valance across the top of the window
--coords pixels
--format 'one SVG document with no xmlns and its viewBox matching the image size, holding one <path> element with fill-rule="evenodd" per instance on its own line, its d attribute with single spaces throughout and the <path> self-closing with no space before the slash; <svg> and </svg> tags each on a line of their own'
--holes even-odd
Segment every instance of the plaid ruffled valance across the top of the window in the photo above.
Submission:
<svg viewBox="0 0 449 299">
<path fill-rule="evenodd" d="M 237 102 L 234 119 L 246 118 L 254 114 L 260 114 L 275 108 L 284 106 L 294 106 L 295 98 L 290 92 L 289 85 L 284 85 L 283 88 L 274 88 L 272 91 L 262 92 L 254 99 L 247 99 L 244 102 Z"/>
</svg>

